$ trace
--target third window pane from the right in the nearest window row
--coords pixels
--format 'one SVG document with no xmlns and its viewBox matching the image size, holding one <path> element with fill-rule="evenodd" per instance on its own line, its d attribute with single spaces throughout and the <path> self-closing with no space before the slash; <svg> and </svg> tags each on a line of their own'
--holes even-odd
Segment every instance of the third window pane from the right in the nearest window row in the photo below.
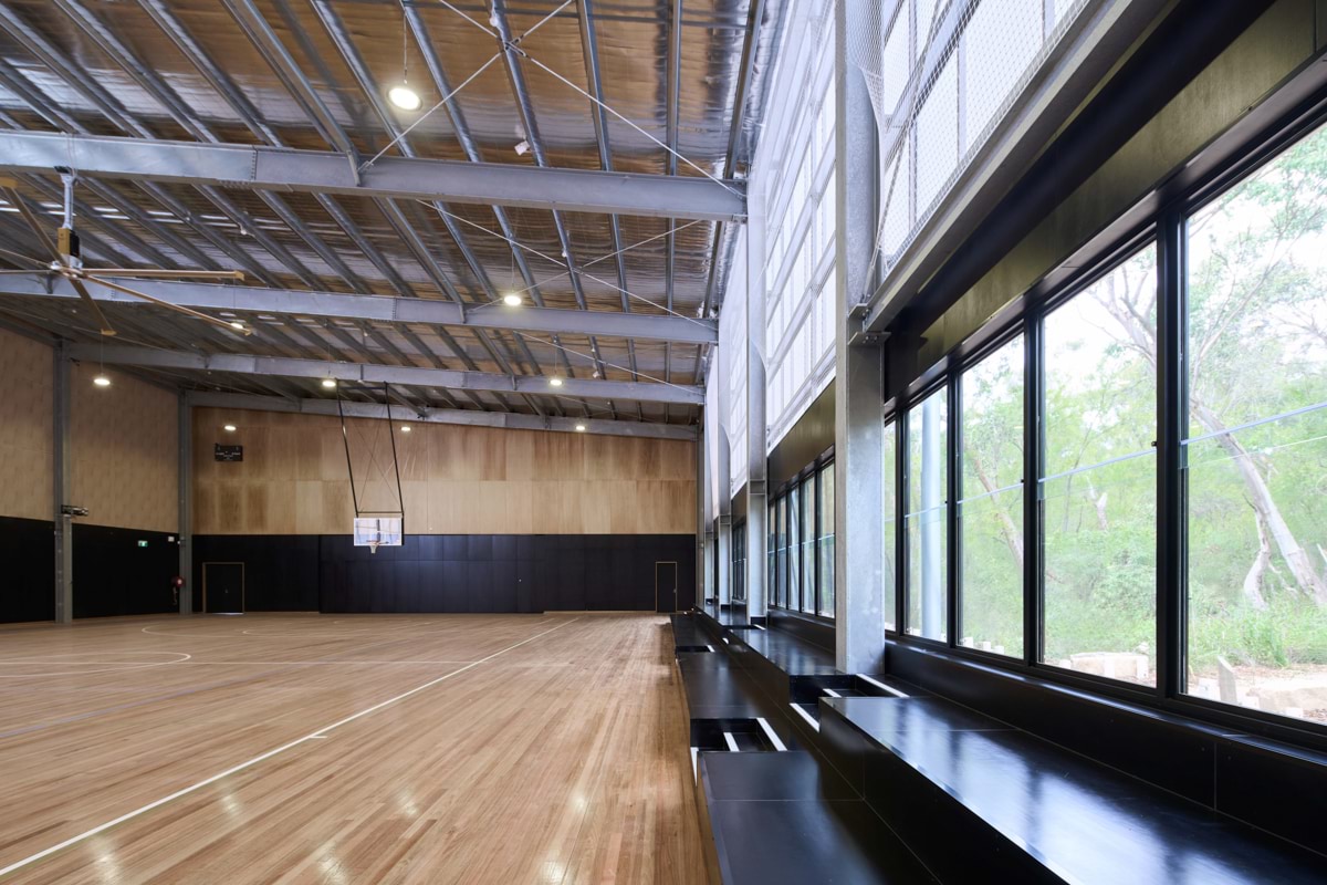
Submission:
<svg viewBox="0 0 1327 885">
<path fill-rule="evenodd" d="M 1023 338 L 963 373 L 959 644 L 1023 655 Z"/>
</svg>

